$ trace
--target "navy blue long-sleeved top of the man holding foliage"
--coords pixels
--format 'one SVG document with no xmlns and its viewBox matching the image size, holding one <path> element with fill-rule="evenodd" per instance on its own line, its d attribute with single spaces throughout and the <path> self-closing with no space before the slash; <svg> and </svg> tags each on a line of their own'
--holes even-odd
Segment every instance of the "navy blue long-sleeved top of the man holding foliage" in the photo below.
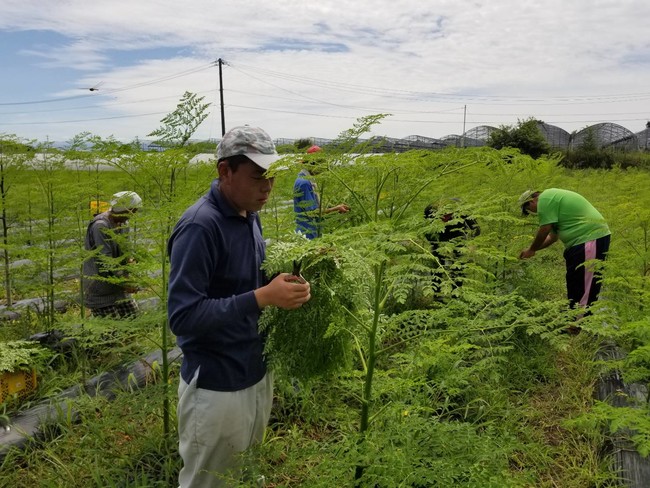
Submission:
<svg viewBox="0 0 650 488">
<path fill-rule="evenodd" d="M 188 208 L 168 242 L 169 326 L 183 351 L 181 375 L 214 391 L 248 388 L 266 373 L 260 310 L 265 243 L 257 213 L 240 216 L 219 181 Z"/>
</svg>

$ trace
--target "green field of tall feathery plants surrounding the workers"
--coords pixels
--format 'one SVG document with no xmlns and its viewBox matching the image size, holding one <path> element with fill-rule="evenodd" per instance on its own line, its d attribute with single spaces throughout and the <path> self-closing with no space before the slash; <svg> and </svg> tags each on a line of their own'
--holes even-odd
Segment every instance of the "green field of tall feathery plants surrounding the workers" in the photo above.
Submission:
<svg viewBox="0 0 650 488">
<path fill-rule="evenodd" d="M 266 486 L 615 485 L 612 445 L 623 439 L 650 452 L 648 405 L 616 408 L 594 391 L 613 371 L 626 383 L 650 379 L 650 173 L 569 170 L 559 155 L 533 160 L 487 147 L 360 152 L 352 144 L 318 153 L 322 206 L 351 208 L 325 216 L 320 238 L 294 233 L 293 156 L 261 212 L 266 271 L 301 260 L 313 296 L 299 310 L 266 310 L 260 324 L 276 398 L 264 442 L 246 455 Z M 166 241 L 216 173 L 214 164 L 190 165 L 182 150 L 0 158 L 0 304 L 42 303 L 0 322 L 3 371 L 38 376 L 28 396 L 2 404 L 6 421 L 174 346 Z M 565 299 L 561 244 L 518 259 L 536 220 L 521 217 L 517 198 L 551 187 L 584 195 L 612 230 L 601 299 L 578 335 L 564 333 L 578 317 Z M 131 221 L 130 272 L 136 298 L 153 305 L 133 320 L 100 320 L 79 305 L 83 240 L 90 203 L 121 190 L 144 201 Z M 424 218 L 429 204 L 436 215 L 472 216 L 481 230 L 441 246 L 451 260 L 444 266 L 427 241 L 444 226 Z M 53 330 L 73 346 L 26 341 Z M 612 343 L 626 355 L 599 359 Z M 163 361 L 146 387 L 69 399 L 42 436 L 6 454 L 0 486 L 176 486 L 178 370 Z"/>
</svg>

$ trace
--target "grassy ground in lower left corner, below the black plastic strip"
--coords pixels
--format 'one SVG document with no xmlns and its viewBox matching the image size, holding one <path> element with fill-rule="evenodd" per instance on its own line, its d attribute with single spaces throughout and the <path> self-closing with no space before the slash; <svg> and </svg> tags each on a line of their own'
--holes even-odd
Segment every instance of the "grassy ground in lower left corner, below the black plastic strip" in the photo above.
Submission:
<svg viewBox="0 0 650 488">
<path fill-rule="evenodd" d="M 75 400 L 78 422 L 50 426 L 25 452 L 10 452 L 0 486 L 172 486 L 180 459 L 162 432 L 160 386 Z"/>
</svg>

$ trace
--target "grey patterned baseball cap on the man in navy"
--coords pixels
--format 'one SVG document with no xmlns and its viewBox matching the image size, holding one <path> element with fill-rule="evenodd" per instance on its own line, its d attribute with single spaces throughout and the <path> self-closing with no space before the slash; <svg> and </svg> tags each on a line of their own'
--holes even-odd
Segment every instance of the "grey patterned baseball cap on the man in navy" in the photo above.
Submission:
<svg viewBox="0 0 650 488">
<path fill-rule="evenodd" d="M 243 125 L 224 134 L 217 147 L 217 161 L 232 156 L 246 156 L 263 169 L 269 169 L 280 156 L 271 137 L 259 127 Z"/>
</svg>

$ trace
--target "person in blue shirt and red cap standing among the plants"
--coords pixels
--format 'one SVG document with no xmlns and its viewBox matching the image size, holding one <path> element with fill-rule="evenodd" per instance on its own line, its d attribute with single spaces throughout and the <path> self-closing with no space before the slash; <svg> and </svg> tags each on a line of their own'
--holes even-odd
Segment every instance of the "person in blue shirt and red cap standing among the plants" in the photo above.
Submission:
<svg viewBox="0 0 650 488">
<path fill-rule="evenodd" d="M 307 154 L 313 154 L 321 151 L 318 146 L 311 146 L 307 149 Z M 308 164 L 303 161 L 303 164 Z M 307 239 L 315 239 L 321 235 L 321 212 L 323 214 L 338 212 L 347 213 L 350 210 L 346 204 L 341 203 L 333 207 L 321 210 L 320 196 L 316 182 L 312 178 L 312 173 L 307 168 L 303 168 L 293 184 L 293 210 L 296 214 L 296 232 L 303 234 Z"/>
</svg>

